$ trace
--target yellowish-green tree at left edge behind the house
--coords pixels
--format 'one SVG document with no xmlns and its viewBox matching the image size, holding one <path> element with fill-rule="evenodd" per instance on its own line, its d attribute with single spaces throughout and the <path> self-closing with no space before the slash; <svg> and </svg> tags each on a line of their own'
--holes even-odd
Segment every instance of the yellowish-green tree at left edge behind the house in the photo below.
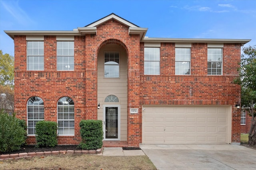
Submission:
<svg viewBox="0 0 256 170">
<path fill-rule="evenodd" d="M 14 57 L 0 50 L 0 85 L 14 88 Z"/>
</svg>

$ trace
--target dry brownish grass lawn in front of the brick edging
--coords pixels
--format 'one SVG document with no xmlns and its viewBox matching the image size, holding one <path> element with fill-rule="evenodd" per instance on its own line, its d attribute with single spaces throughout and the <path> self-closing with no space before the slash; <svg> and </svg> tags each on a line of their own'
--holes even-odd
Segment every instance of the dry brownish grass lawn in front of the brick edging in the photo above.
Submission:
<svg viewBox="0 0 256 170">
<path fill-rule="evenodd" d="M 66 154 L 0 160 L 0 170 L 156 170 L 148 156 Z"/>
</svg>

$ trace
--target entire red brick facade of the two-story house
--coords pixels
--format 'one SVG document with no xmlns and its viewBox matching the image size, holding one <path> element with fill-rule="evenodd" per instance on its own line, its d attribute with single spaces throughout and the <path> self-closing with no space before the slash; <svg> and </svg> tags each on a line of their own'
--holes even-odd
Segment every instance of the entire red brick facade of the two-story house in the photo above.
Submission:
<svg viewBox="0 0 256 170">
<path fill-rule="evenodd" d="M 142 142 L 142 105 L 232 105 L 232 142 L 240 142 L 240 44 L 224 44 L 223 75 L 207 75 L 207 43 L 192 43 L 191 75 L 175 75 L 175 44 L 161 43 L 160 75 L 144 75 L 144 43 L 129 35 L 128 27 L 116 20 L 97 26 L 96 35 L 75 36 L 74 71 L 56 71 L 56 36 L 44 36 L 44 71 L 26 70 L 26 36 L 15 36 L 15 111 L 26 120 L 31 96 L 44 100 L 45 120 L 57 121 L 56 105 L 63 96 L 75 104 L 75 135 L 58 137 L 59 145 L 80 143 L 79 122 L 97 119 L 97 54 L 105 44 L 118 44 L 128 53 L 128 145 Z M 28 143 L 34 143 L 34 137 Z"/>
</svg>

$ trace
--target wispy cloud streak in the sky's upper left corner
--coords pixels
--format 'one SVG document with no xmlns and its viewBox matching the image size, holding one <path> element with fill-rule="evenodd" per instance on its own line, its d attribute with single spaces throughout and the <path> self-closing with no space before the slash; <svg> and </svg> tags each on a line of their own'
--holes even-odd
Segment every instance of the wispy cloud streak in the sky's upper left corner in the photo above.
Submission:
<svg viewBox="0 0 256 170">
<path fill-rule="evenodd" d="M 19 1 L 0 1 L 4 9 L 22 25 L 34 23 L 34 21 L 19 6 Z"/>
</svg>

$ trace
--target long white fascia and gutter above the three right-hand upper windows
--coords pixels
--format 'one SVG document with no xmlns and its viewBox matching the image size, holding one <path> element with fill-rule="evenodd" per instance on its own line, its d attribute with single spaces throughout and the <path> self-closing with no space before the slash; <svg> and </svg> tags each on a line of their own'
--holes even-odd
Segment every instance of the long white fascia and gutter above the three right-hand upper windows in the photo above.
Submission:
<svg viewBox="0 0 256 170">
<path fill-rule="evenodd" d="M 144 37 L 142 42 L 162 43 L 242 43 L 246 44 L 251 39 L 185 39 L 185 38 L 149 38 Z"/>
</svg>

